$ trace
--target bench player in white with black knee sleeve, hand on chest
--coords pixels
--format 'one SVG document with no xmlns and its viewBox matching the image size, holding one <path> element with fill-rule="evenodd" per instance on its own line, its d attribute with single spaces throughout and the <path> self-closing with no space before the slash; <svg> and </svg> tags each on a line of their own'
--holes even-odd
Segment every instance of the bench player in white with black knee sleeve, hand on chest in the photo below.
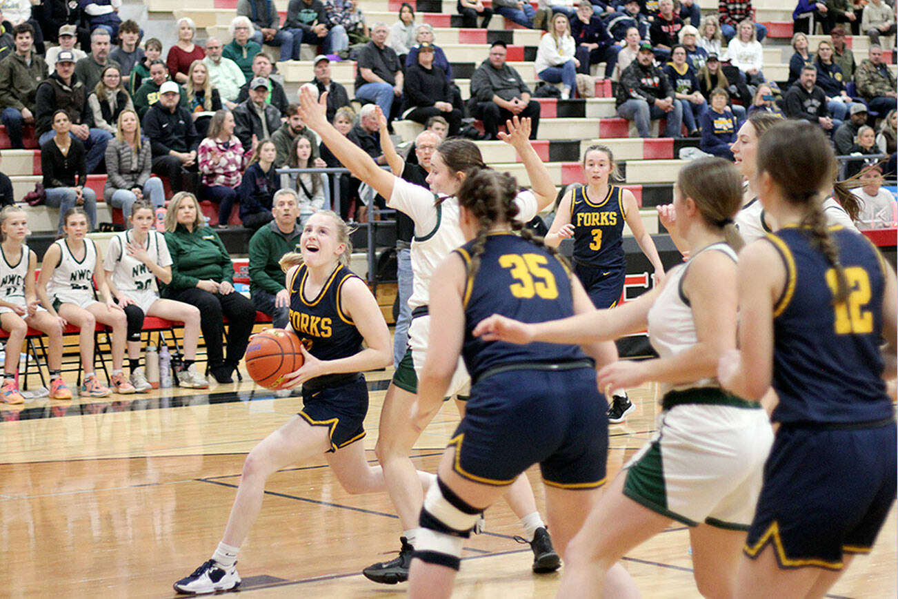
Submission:
<svg viewBox="0 0 898 599">
<path fill-rule="evenodd" d="M 131 207 L 130 219 L 132 228 L 116 233 L 103 259 L 110 293 L 128 317 L 130 382 L 137 392 L 152 389 L 144 367 L 140 366 L 140 331 L 144 317 L 155 316 L 184 323 L 184 368 L 178 373 L 178 384 L 188 389 L 206 389 L 209 383 L 194 366 L 199 339 L 199 308 L 159 297 L 156 278 L 163 283 L 172 280 L 172 256 L 163 233 L 153 228 L 153 205 L 137 200 Z"/>
</svg>

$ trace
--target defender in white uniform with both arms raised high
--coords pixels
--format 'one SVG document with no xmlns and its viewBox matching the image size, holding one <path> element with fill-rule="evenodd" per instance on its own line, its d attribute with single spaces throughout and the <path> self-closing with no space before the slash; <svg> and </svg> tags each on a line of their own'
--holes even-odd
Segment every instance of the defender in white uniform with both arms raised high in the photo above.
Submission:
<svg viewBox="0 0 898 599">
<path fill-rule="evenodd" d="M 322 100 L 316 102 L 308 90 L 300 92 L 302 106 L 300 112 L 305 124 L 321 136 L 325 145 L 341 163 L 349 165 L 355 176 L 384 198 L 388 198 L 389 207 L 401 210 L 415 222 L 415 237 L 411 244 L 414 287 L 409 299 L 409 307 L 412 308 L 409 351 L 401 363 L 396 365 L 397 373 L 394 374 L 387 390 L 375 450 L 383 466 L 390 498 L 400 517 L 403 529 L 401 552 L 399 558 L 376 563 L 363 571 L 365 577 L 374 582 L 395 584 L 405 581 L 408 577 L 411 552 L 418 530 L 418 515 L 424 503 L 420 486 L 414 488 L 418 474 L 409 458 L 412 445 L 418 439 L 420 431 L 411 427 L 409 415 L 416 401 L 414 394 L 417 391 L 416 371 L 424 365 L 424 352 L 427 350 L 430 321 L 427 317 L 427 287 L 430 285 L 430 277 L 436 265 L 465 241 L 459 225 L 458 201 L 453 197 L 465 176 L 460 172 L 485 168 L 486 165 L 477 145 L 467 140 L 451 139 L 437 148 L 431 160 L 431 170 L 427 177 L 431 190 L 403 181 L 379 168 L 357 145 L 352 144 L 330 125 L 324 112 L 325 104 L 322 103 L 326 101 L 326 96 L 322 94 L 321 98 Z M 518 219 L 527 222 L 555 198 L 555 186 L 551 182 L 549 172 L 527 139 L 530 133 L 529 119 L 524 121 L 518 123 L 515 119 L 515 123 L 509 122 L 509 135 L 503 138 L 514 145 L 521 155 L 536 192 L 535 196 L 532 192 L 523 192 L 515 200 L 520 208 Z M 450 395 L 465 392 L 469 386 L 469 377 L 461 360 L 459 364 L 448 390 Z M 551 571 L 558 568 L 559 556 L 551 548 L 545 524 L 536 509 L 529 480 L 526 477 L 519 477 L 505 497 L 515 514 L 521 518 L 524 540 L 531 543 L 535 556 L 533 568 L 536 571 Z"/>
</svg>

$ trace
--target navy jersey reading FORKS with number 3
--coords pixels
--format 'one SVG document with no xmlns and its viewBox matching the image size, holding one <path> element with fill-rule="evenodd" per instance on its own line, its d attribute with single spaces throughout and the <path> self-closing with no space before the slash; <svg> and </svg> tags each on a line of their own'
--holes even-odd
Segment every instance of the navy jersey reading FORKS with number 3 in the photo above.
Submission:
<svg viewBox="0 0 898 599">
<path fill-rule="evenodd" d="M 622 247 L 623 189 L 608 186 L 604 198 L 589 198 L 586 187 L 572 192 L 570 222 L 574 225 L 574 260 L 600 269 L 625 266 Z"/>
</svg>

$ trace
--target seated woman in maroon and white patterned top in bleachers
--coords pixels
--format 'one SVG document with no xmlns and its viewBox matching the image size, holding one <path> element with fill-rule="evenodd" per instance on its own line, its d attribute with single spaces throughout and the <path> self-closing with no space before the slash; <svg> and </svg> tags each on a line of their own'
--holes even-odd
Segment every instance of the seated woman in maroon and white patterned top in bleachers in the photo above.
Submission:
<svg viewBox="0 0 898 599">
<path fill-rule="evenodd" d="M 208 136 L 199 142 L 197 150 L 197 163 L 202 174 L 198 197 L 218 205 L 216 226 L 220 228 L 227 226 L 237 201 L 242 172 L 246 170 L 259 139 L 263 139 L 253 139 L 251 145 L 243 146 L 233 131 L 233 113 L 218 110 L 209 123 Z"/>
</svg>

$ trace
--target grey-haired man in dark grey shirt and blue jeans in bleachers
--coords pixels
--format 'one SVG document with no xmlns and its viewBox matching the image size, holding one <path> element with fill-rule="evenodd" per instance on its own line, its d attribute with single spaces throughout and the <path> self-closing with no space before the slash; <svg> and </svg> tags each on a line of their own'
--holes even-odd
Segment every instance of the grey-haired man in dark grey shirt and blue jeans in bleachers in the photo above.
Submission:
<svg viewBox="0 0 898 599">
<path fill-rule="evenodd" d="M 391 119 L 393 103 L 402 97 L 404 76 L 399 57 L 386 45 L 387 34 L 386 23 L 375 22 L 371 41 L 359 52 L 356 98 L 373 101 Z"/>
</svg>

